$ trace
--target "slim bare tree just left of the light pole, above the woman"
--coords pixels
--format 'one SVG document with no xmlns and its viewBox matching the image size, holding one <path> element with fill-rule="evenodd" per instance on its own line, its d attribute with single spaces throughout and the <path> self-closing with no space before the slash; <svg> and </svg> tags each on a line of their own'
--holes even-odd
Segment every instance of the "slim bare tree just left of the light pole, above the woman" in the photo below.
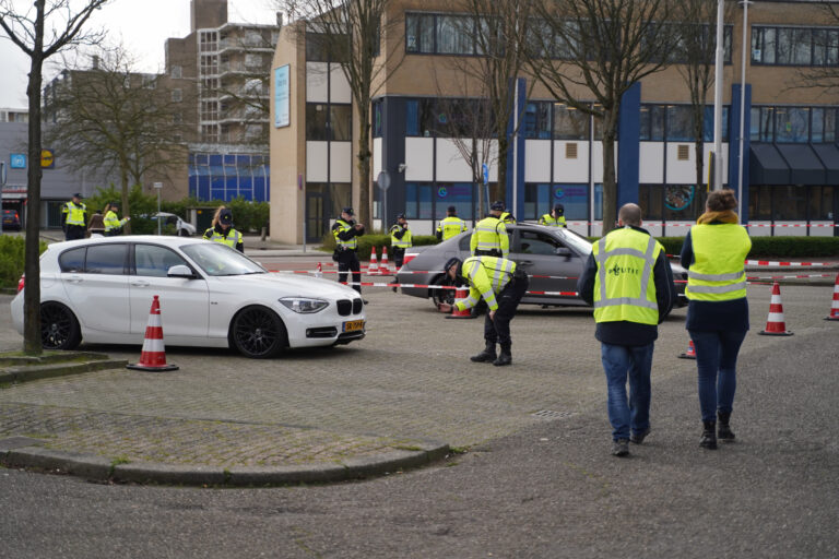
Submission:
<svg viewBox="0 0 839 559">
<path fill-rule="evenodd" d="M 731 21 L 734 3 L 725 5 L 725 21 Z M 674 8 L 680 22 L 678 40 L 671 61 L 676 64 L 680 75 L 690 94 L 693 112 L 694 152 L 696 157 L 696 185 L 702 185 L 705 175 L 705 107 L 708 92 L 713 85 L 717 55 L 717 3 L 707 0 L 681 0 Z M 725 37 L 731 40 L 731 34 Z M 731 52 L 731 45 L 725 45 Z"/>
</svg>

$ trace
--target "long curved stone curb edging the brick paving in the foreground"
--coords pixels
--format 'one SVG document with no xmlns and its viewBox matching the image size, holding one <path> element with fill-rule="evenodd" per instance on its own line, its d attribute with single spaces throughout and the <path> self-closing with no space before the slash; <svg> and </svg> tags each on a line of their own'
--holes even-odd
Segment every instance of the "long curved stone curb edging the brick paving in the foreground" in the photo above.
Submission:
<svg viewBox="0 0 839 559">
<path fill-rule="evenodd" d="M 426 466 L 446 457 L 448 444 L 427 444 L 416 451 L 397 450 L 343 463 L 295 466 L 218 466 L 137 462 L 115 464 L 96 454 L 44 449 L 42 441 L 25 437 L 0 440 L 0 464 L 7 467 L 70 474 L 93 481 L 135 484 L 263 487 L 297 484 L 332 484 L 387 475 Z"/>
</svg>

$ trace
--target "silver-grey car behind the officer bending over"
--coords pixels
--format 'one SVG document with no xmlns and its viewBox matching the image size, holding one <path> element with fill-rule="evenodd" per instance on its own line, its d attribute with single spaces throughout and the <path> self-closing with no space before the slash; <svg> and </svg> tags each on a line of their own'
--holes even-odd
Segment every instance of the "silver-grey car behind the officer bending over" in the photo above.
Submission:
<svg viewBox="0 0 839 559">
<path fill-rule="evenodd" d="M 528 295 L 522 304 L 547 306 L 586 306 L 577 295 L 577 280 L 591 254 L 591 242 L 566 228 L 545 227 L 521 223 L 508 225 L 510 236 L 509 257 L 530 276 Z M 400 284 L 449 285 L 442 265 L 452 257 L 466 259 L 471 255 L 469 242 L 472 231 L 429 247 L 407 249 L 404 265 L 397 274 Z M 671 263 L 673 278 L 687 280 L 687 271 Z M 677 283 L 677 306 L 687 305 L 685 284 Z M 539 292 L 544 292 L 540 294 Z M 433 287 L 402 287 L 402 293 L 413 297 L 432 298 L 432 301 L 450 302 L 453 289 Z"/>
</svg>

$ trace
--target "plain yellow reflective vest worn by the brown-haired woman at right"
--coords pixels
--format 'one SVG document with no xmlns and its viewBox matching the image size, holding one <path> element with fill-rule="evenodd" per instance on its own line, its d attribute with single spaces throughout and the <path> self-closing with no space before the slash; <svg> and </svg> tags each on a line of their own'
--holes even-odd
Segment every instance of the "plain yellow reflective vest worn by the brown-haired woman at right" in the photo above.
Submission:
<svg viewBox="0 0 839 559">
<path fill-rule="evenodd" d="M 694 225 L 694 262 L 687 271 L 688 299 L 728 301 L 746 296 L 744 261 L 752 249 L 746 229 L 736 224 Z"/>
</svg>

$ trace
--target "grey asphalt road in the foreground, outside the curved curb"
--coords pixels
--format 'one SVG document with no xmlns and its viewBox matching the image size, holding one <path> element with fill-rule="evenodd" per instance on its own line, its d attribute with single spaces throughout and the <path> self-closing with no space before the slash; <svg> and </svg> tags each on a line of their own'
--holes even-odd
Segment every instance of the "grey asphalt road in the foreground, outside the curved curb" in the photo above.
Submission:
<svg viewBox="0 0 839 559">
<path fill-rule="evenodd" d="M 653 365 L 653 432 L 627 460 L 608 455 L 601 390 L 577 399 L 576 415 L 530 423 L 433 467 L 359 483 L 187 489 L 0 469 L 0 557 L 837 557 L 839 324 L 820 321 L 826 293 L 787 289 L 796 334 L 767 338 L 755 335 L 763 323 L 754 316 L 765 313 L 768 297 L 751 289 L 753 332 L 732 419 L 737 442 L 716 452 L 698 447 L 695 372 L 666 355 L 682 344 L 678 324 L 669 322 Z M 513 335 L 550 318 L 529 311 Z M 477 331 L 476 322 L 468 328 Z M 553 335 L 557 345 L 546 348 L 539 336 L 545 355 L 592 350 Z M 442 353 L 462 359 L 471 348 Z M 520 364 L 505 374 L 542 367 L 533 357 Z M 678 368 L 662 370 L 671 366 Z M 560 360 L 557 369 L 563 382 L 551 391 L 566 382 L 579 390 Z M 602 372 L 589 373 L 587 384 L 603 389 Z M 486 383 L 498 381 L 487 373 Z"/>
</svg>

